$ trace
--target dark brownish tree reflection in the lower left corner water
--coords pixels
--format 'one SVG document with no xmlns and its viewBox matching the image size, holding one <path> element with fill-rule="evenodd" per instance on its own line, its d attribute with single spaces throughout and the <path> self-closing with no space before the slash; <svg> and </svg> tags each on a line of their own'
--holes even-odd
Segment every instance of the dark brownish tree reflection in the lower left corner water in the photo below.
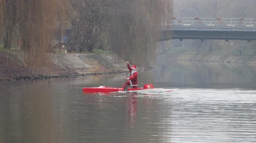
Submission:
<svg viewBox="0 0 256 143">
<path fill-rule="evenodd" d="M 10 82 L 1 88 L 1 142 L 56 142 L 47 89 L 26 82 Z"/>
</svg>

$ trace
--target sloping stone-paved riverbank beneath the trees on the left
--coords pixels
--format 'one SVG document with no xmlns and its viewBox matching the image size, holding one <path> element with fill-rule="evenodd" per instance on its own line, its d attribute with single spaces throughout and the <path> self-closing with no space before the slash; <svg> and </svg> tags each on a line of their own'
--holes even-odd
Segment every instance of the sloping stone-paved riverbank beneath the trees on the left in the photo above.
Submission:
<svg viewBox="0 0 256 143">
<path fill-rule="evenodd" d="M 125 61 L 112 54 L 51 54 L 50 66 L 40 68 L 25 67 L 22 59 L 19 53 L 0 52 L 0 80 L 40 80 L 127 72 Z"/>
</svg>

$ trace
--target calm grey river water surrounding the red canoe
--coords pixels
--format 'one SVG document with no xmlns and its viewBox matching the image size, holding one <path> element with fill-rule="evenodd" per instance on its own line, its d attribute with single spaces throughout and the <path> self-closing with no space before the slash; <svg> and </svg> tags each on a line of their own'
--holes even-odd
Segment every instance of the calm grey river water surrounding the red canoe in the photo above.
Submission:
<svg viewBox="0 0 256 143">
<path fill-rule="evenodd" d="M 0 142 L 256 142 L 255 72 L 166 62 L 139 84 L 172 93 L 83 94 L 126 74 L 0 82 Z"/>
</svg>

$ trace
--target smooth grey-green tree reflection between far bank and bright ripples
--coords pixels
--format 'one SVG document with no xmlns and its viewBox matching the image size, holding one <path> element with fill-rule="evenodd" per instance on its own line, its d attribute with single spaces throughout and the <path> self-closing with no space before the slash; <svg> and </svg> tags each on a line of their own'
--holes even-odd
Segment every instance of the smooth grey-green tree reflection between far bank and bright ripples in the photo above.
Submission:
<svg viewBox="0 0 256 143">
<path fill-rule="evenodd" d="M 254 72 L 246 65 L 231 65 L 221 63 L 175 63 L 159 64 L 154 71 L 161 73 L 155 78 L 156 82 L 182 83 L 254 83 Z M 154 69 L 155 70 L 155 69 Z M 161 71 L 163 70 L 163 71 Z"/>
</svg>

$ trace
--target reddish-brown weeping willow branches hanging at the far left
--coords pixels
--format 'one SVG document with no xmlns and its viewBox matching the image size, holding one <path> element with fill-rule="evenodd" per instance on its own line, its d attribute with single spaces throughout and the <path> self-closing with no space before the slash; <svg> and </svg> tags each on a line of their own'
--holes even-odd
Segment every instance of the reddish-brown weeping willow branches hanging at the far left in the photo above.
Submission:
<svg viewBox="0 0 256 143">
<path fill-rule="evenodd" d="M 19 39 L 25 63 L 37 67 L 49 63 L 47 52 L 56 25 L 66 16 L 66 0 L 0 0 L 0 34 L 4 48 Z"/>
</svg>

